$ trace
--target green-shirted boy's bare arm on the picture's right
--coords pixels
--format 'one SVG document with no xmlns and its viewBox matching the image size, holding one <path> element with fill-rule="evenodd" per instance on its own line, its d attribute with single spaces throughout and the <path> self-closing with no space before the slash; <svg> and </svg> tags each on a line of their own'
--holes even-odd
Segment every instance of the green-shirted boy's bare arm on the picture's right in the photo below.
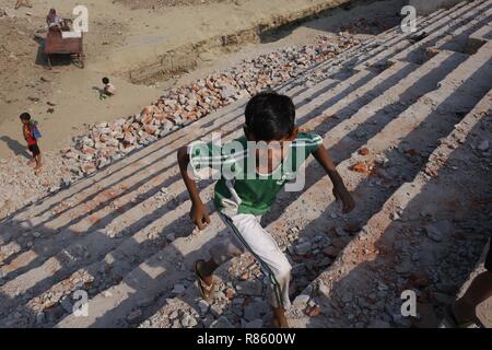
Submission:
<svg viewBox="0 0 492 350">
<path fill-rule="evenodd" d="M 333 195 L 337 200 L 342 201 L 343 212 L 351 212 L 355 208 L 355 201 L 343 184 L 343 179 L 340 174 L 337 172 L 335 163 L 328 154 L 328 150 L 321 144 L 315 152 L 313 152 L 313 156 L 319 162 L 319 164 L 321 164 L 330 177 L 331 183 L 333 183 Z"/>
</svg>

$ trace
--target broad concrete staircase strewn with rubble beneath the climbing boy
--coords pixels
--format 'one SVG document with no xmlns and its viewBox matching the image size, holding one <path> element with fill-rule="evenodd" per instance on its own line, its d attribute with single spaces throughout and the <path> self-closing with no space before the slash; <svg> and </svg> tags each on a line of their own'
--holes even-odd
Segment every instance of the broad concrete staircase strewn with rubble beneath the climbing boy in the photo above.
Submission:
<svg viewBox="0 0 492 350">
<path fill-rule="evenodd" d="M 394 278 L 390 289 L 398 290 L 411 279 L 403 258 L 409 253 L 395 257 L 394 244 L 418 242 L 419 236 L 395 233 L 403 226 L 429 224 L 429 218 L 455 226 L 476 219 L 490 226 L 490 214 L 477 210 L 464 219 L 444 203 L 458 198 L 462 211 L 478 194 L 479 208 L 492 199 L 484 175 L 490 153 L 476 154 L 477 138 L 491 140 L 484 125 L 492 96 L 491 15 L 492 0 L 460 2 L 419 19 L 418 33 L 389 30 L 279 86 L 293 97 L 300 125 L 325 137 L 359 203 L 353 213 L 340 217 L 329 180 L 311 161 L 305 190 L 282 194 L 265 218 L 293 262 L 294 296 L 308 295 L 294 303 L 294 326 L 367 326 L 377 316 L 371 310 L 385 312 L 385 306 L 367 306 L 366 315 L 344 304 L 358 300 L 362 307 L 368 295 L 364 291 L 374 283 L 377 290 L 377 281 Z M 227 233 L 216 214 L 206 231 L 194 231 L 175 155 L 177 148 L 211 132 L 225 139 L 239 136 L 245 103 L 200 119 L 1 222 L 0 326 L 267 325 L 261 272 L 248 255 L 218 271 L 222 283 L 212 305 L 199 302 L 192 262 L 207 257 L 208 248 Z M 359 154 L 361 148 L 368 154 Z M 453 162 L 459 162 L 468 183 L 454 174 Z M 351 171 L 356 163 L 370 165 L 371 172 Z M 212 210 L 213 184 L 200 186 Z M 424 207 L 425 215 L 420 215 Z M 482 231 L 471 225 L 462 241 L 481 245 L 481 250 L 487 241 Z M 452 242 L 452 236 L 453 230 L 441 241 Z M 293 247 L 303 242 L 312 243 L 312 253 L 297 256 Z M 441 246 L 425 241 L 408 249 Z M 400 265 L 406 269 L 398 276 L 388 269 Z M 89 293 L 87 317 L 72 314 L 78 290 Z M 227 290 L 234 295 L 226 295 Z M 344 304 L 343 295 L 351 295 Z M 389 312 L 396 314 L 399 296 L 393 301 Z M 320 315 L 307 316 L 306 307 L 318 307 Z M 388 323 L 406 326 L 397 316 Z"/>
</svg>

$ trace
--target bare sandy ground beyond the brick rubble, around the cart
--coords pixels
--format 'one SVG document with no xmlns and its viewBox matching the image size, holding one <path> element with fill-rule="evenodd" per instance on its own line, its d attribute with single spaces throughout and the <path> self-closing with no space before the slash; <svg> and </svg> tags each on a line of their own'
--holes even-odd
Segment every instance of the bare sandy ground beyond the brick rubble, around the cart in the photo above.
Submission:
<svg viewBox="0 0 492 350">
<path fill-rule="evenodd" d="M 47 9 L 55 7 L 62 16 L 70 18 L 77 1 L 36 1 L 33 8 L 19 10 L 13 10 L 13 2 L 0 0 L 0 8 L 7 8 L 13 14 L 13 18 L 0 19 L 0 65 L 7 68 L 0 72 L 0 140 L 3 141 L 0 142 L 0 158 L 3 159 L 25 153 L 17 119 L 22 112 L 30 112 L 40 122 L 44 131 L 40 142 L 43 150 L 56 150 L 69 144 L 71 137 L 82 133 L 86 125 L 139 113 L 142 106 L 155 101 L 168 88 L 230 67 L 260 51 L 308 42 L 316 34 L 338 31 L 347 20 L 356 20 L 366 11 L 361 8 L 349 15 L 347 11 L 337 10 L 329 16 L 295 30 L 266 36 L 262 43 L 245 45 L 238 52 L 231 55 L 203 50 L 196 69 L 189 73 L 185 71 L 176 79 L 144 86 L 128 82 L 128 70 L 152 62 L 163 51 L 179 47 L 183 43 L 194 43 L 207 36 L 247 27 L 269 14 L 284 12 L 286 1 L 210 1 L 185 7 L 166 7 L 179 4 L 179 1 L 132 1 L 132 5 L 125 1 L 89 2 L 90 32 L 84 37 L 87 60 L 83 70 L 61 58 L 56 60 L 52 70 L 46 70 L 39 45 L 46 33 L 44 19 Z M 312 5 L 327 1 L 288 2 L 292 10 L 301 9 L 306 3 Z M 279 8 L 282 10 L 279 11 Z M 395 13 L 395 8 L 387 4 L 376 3 L 373 8 L 374 11 Z M 224 13 L 227 13 L 226 21 L 223 21 Z M 194 24 L 192 27 L 190 24 Z M 95 88 L 101 86 L 101 79 L 105 75 L 112 78 L 118 95 L 101 102 Z"/>
</svg>

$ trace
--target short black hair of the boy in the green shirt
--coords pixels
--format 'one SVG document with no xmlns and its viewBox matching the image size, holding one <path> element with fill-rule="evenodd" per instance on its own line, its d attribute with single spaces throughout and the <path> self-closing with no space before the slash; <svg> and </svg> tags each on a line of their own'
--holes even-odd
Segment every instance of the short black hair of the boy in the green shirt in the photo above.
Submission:
<svg viewBox="0 0 492 350">
<path fill-rule="evenodd" d="M 295 106 L 291 97 L 262 92 L 246 106 L 246 127 L 257 141 L 280 140 L 295 127 Z"/>
</svg>

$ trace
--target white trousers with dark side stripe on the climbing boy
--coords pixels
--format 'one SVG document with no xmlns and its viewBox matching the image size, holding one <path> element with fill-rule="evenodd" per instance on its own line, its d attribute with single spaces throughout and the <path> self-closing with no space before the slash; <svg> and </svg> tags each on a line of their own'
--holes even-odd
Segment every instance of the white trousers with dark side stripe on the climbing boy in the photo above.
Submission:
<svg viewBox="0 0 492 350">
<path fill-rule="evenodd" d="M 272 306 L 288 310 L 291 306 L 289 283 L 292 267 L 270 233 L 261 226 L 261 217 L 253 214 L 233 217 L 220 214 L 220 217 L 233 231 L 233 235 L 212 246 L 210 255 L 213 261 L 222 265 L 247 249 L 258 260 L 269 279 Z"/>
</svg>

